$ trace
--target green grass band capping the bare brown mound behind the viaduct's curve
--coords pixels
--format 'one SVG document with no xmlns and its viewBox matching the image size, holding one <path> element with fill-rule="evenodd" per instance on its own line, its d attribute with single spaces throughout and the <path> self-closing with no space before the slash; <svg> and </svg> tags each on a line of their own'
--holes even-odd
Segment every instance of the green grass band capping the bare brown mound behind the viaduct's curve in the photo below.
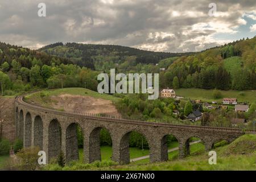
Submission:
<svg viewBox="0 0 256 182">
<path fill-rule="evenodd" d="M 72 94 L 79 96 L 90 96 L 94 98 L 102 98 L 104 100 L 110 100 L 113 102 L 117 102 L 120 98 L 114 97 L 109 94 L 100 94 L 98 92 L 94 92 L 85 88 L 64 88 L 64 89 L 55 89 L 55 90 L 42 90 L 40 92 L 36 92 L 33 94 L 29 94 L 25 97 L 26 102 L 36 102 L 40 105 L 50 107 L 51 104 L 51 96 L 59 96 L 61 94 Z"/>
</svg>

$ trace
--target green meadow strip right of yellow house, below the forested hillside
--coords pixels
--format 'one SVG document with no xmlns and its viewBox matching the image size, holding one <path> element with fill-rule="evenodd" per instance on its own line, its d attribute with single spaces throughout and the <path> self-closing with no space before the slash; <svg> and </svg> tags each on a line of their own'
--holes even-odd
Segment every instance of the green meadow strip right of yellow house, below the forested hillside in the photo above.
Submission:
<svg viewBox="0 0 256 182">
<path fill-rule="evenodd" d="M 222 102 L 222 98 L 214 99 L 213 90 L 205 89 L 175 89 L 176 95 L 184 98 L 190 98 L 192 100 L 202 100 L 205 102 Z M 238 102 L 256 102 L 256 90 L 246 90 L 246 91 L 237 91 L 237 90 L 220 90 L 223 97 L 234 97 L 237 98 Z M 243 92 L 243 94 L 241 94 Z"/>
</svg>

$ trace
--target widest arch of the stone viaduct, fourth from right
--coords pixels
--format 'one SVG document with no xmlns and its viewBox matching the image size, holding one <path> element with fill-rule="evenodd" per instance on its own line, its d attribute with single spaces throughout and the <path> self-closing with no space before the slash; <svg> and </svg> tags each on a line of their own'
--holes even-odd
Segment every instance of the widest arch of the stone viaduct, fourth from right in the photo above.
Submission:
<svg viewBox="0 0 256 182">
<path fill-rule="evenodd" d="M 126 131 L 125 134 L 122 135 L 121 140 L 119 142 L 119 151 L 120 151 L 120 159 L 119 159 L 119 163 L 120 164 L 128 164 L 130 163 L 130 148 L 129 148 L 129 139 L 130 139 L 130 134 L 132 132 L 137 132 L 141 135 L 143 135 L 144 138 L 146 138 L 147 142 L 148 142 L 148 147 L 150 150 L 150 161 L 152 160 L 152 154 L 151 154 L 151 144 L 150 144 L 150 138 L 147 137 L 147 135 L 140 130 L 137 129 L 133 129 L 130 131 Z"/>
</svg>

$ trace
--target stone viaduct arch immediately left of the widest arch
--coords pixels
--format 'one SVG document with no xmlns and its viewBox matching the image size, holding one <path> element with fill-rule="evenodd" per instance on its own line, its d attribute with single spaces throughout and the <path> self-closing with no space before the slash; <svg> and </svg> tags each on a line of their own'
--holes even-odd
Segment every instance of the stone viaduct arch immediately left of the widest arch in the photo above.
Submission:
<svg viewBox="0 0 256 182">
<path fill-rule="evenodd" d="M 102 129 L 108 130 L 110 133 L 110 137 L 113 140 L 112 133 L 105 126 L 97 126 L 94 127 L 89 134 L 89 163 L 92 163 L 96 160 L 101 160 L 101 139 L 100 139 L 100 132 Z M 112 148 L 113 150 L 113 148 Z M 113 154 L 113 152 L 112 152 Z M 85 154 L 86 155 L 86 154 Z"/>
</svg>

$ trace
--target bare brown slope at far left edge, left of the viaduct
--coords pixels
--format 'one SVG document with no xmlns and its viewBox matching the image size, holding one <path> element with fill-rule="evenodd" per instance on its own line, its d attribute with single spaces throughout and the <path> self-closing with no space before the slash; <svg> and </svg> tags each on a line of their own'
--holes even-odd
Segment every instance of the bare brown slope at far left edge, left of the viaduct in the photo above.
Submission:
<svg viewBox="0 0 256 182">
<path fill-rule="evenodd" d="M 0 121 L 2 120 L 2 137 L 13 141 L 15 139 L 15 112 L 13 97 L 0 97 L 0 112 Z"/>
</svg>

